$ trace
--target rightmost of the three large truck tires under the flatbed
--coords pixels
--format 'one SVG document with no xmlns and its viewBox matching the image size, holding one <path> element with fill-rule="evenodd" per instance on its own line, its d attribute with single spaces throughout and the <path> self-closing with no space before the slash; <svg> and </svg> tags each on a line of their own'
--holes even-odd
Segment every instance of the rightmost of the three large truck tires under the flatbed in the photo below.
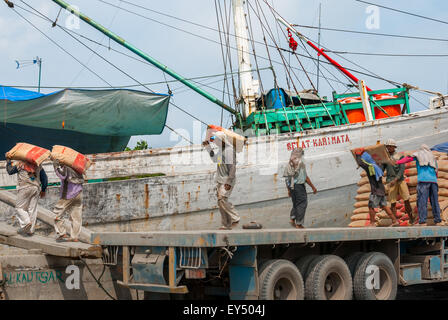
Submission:
<svg viewBox="0 0 448 320">
<path fill-rule="evenodd" d="M 379 289 L 368 289 L 369 266 L 379 268 Z M 357 300 L 394 300 L 397 296 L 397 273 L 389 257 L 381 252 L 370 252 L 364 254 L 356 266 L 353 277 L 353 291 Z"/>
</svg>

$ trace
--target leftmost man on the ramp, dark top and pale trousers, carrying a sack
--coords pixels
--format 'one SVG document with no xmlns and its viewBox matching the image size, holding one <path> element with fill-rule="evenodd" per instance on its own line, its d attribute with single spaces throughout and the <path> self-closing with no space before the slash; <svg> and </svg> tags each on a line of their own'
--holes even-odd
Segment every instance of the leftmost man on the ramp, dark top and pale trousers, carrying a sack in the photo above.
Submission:
<svg viewBox="0 0 448 320">
<path fill-rule="evenodd" d="M 23 161 L 12 164 L 10 159 L 6 162 L 6 171 L 9 175 L 17 174 L 17 201 L 16 211 L 19 221 L 19 234 L 32 236 L 37 220 L 37 202 L 39 197 L 45 197 L 48 178 L 42 167 L 35 167 Z"/>
</svg>

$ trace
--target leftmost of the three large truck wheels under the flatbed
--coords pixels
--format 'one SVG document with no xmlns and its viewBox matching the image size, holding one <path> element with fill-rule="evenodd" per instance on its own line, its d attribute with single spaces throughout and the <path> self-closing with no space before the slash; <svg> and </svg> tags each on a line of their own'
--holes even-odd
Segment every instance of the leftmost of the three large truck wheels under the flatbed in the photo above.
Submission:
<svg viewBox="0 0 448 320">
<path fill-rule="evenodd" d="M 303 278 L 292 262 L 270 260 L 263 267 L 258 277 L 260 300 L 303 300 Z"/>
</svg>

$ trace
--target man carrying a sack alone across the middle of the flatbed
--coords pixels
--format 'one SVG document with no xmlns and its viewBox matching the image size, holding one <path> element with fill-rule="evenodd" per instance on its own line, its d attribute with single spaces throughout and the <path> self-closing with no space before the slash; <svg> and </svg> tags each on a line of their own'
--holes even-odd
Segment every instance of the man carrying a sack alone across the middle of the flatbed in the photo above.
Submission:
<svg viewBox="0 0 448 320">
<path fill-rule="evenodd" d="M 223 132 L 216 132 L 209 140 L 205 140 L 202 145 L 210 154 L 213 162 L 217 163 L 215 179 L 217 183 L 218 207 L 221 212 L 222 226 L 220 229 L 231 230 L 240 221 L 238 212 L 229 201 L 236 182 L 236 150 L 234 146 L 226 142 Z M 220 147 L 221 150 L 218 154 L 211 150 L 210 142 L 214 142 Z"/>
</svg>

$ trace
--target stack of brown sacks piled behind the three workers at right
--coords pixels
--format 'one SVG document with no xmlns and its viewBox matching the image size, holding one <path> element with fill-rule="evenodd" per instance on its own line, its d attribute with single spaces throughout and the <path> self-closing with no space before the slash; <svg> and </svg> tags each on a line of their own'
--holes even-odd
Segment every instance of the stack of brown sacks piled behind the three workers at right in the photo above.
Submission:
<svg viewBox="0 0 448 320">
<path fill-rule="evenodd" d="M 399 153 L 399 156 L 410 156 L 414 151 L 407 151 Z M 438 172 L 438 184 L 439 184 L 439 204 L 441 210 L 442 219 L 448 222 L 448 155 L 433 151 L 434 156 L 437 159 L 439 166 Z M 415 161 L 407 163 L 405 169 L 405 181 L 409 187 L 409 193 L 411 195 L 410 203 L 414 209 L 414 218 L 418 217 L 417 212 L 417 168 Z M 383 178 L 383 183 L 386 186 L 386 179 Z M 355 210 L 351 217 L 351 223 L 349 227 L 365 227 L 370 223 L 369 218 L 369 196 L 370 196 L 370 184 L 369 179 L 365 171 L 361 172 L 361 179 L 358 182 L 358 191 L 355 197 Z M 387 190 L 386 190 L 387 192 Z M 400 199 L 400 198 L 399 198 Z M 390 203 L 387 204 L 390 207 Z M 387 213 L 383 210 L 376 209 L 376 225 L 381 227 L 387 227 L 392 225 L 392 220 L 388 217 Z M 409 216 L 405 213 L 405 206 L 403 200 L 397 202 L 397 218 L 399 219 L 400 226 L 409 226 Z M 434 218 L 432 216 L 431 205 L 428 203 L 428 225 L 434 225 Z"/>
</svg>

